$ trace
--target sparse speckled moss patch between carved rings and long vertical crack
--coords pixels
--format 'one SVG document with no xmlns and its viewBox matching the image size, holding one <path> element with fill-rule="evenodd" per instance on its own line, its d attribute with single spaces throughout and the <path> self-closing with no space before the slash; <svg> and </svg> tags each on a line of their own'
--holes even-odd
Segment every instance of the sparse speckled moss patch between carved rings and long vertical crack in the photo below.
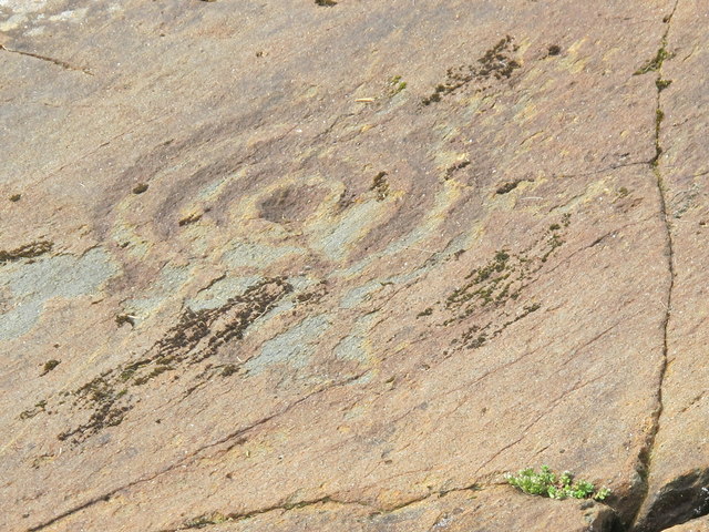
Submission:
<svg viewBox="0 0 709 532">
<path fill-rule="evenodd" d="M 482 347 L 512 324 L 538 310 L 538 303 L 525 303 L 523 290 L 538 277 L 538 272 L 552 254 L 564 244 L 564 229 L 569 217 L 548 226 L 544 236 L 530 248 L 513 253 L 497 250 L 485 264 L 472 269 L 465 283 L 451 291 L 442 303 L 442 311 L 449 317 L 441 323 L 452 324 L 473 320 L 473 324 L 454 344 L 471 349 Z"/>
</svg>

